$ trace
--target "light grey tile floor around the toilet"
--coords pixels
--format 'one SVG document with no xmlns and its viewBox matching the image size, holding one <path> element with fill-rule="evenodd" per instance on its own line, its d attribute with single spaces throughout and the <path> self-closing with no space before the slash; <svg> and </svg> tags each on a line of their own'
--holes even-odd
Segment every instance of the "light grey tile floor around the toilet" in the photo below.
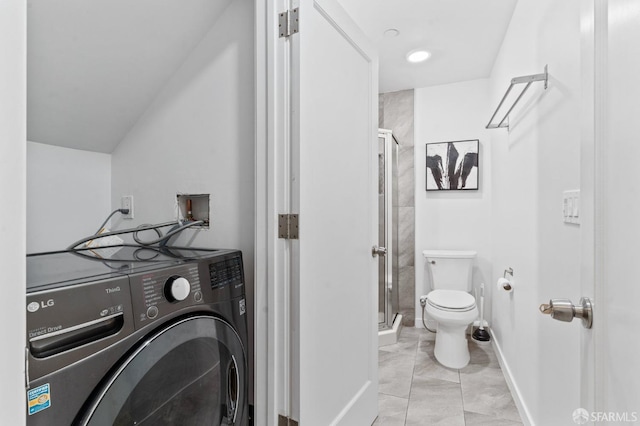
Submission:
<svg viewBox="0 0 640 426">
<path fill-rule="evenodd" d="M 440 365 L 435 334 L 405 327 L 398 343 L 379 349 L 379 415 L 374 426 L 522 425 L 489 345 L 469 342 L 471 361 L 460 370 Z"/>
</svg>

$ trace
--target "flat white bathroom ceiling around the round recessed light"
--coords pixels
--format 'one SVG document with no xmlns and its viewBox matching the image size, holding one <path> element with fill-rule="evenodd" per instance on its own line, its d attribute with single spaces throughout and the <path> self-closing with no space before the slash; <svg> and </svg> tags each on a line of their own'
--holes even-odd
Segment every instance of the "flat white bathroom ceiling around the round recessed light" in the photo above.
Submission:
<svg viewBox="0 0 640 426">
<path fill-rule="evenodd" d="M 517 0 L 338 0 L 378 47 L 380 92 L 486 78 Z M 397 37 L 385 37 L 394 28 Z M 406 54 L 432 57 L 410 64 Z"/>
</svg>

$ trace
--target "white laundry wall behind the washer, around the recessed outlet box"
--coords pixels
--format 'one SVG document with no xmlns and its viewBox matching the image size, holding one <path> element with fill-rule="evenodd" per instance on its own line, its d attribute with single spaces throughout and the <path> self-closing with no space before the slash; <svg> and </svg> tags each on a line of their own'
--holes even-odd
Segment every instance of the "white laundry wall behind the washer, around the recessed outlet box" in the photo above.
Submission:
<svg viewBox="0 0 640 426">
<path fill-rule="evenodd" d="M 178 193 L 211 195 L 211 226 L 175 242 L 239 248 L 253 300 L 255 223 L 254 9 L 235 0 L 112 154 L 112 206 L 134 196 L 133 220 L 176 218 Z M 142 238 L 155 234 L 142 234 Z M 252 331 L 252 312 L 248 317 Z"/>
</svg>

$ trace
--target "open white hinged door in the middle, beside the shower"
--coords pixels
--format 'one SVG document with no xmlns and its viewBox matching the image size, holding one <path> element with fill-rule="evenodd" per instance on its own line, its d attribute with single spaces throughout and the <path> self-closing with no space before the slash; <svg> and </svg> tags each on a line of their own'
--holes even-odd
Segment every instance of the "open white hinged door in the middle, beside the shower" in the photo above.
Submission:
<svg viewBox="0 0 640 426">
<path fill-rule="evenodd" d="M 292 415 L 377 415 L 377 56 L 334 0 L 299 2 L 291 42 Z"/>
</svg>

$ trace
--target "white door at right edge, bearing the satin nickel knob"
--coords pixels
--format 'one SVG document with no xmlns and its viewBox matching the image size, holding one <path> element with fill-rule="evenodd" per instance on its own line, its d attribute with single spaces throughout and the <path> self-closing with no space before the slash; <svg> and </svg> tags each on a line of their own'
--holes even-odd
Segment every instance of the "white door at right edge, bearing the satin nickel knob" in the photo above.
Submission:
<svg viewBox="0 0 640 426">
<path fill-rule="evenodd" d="M 590 0 L 582 22 L 581 278 L 594 316 L 593 330 L 582 335 L 582 412 L 574 411 L 574 421 L 638 424 L 640 3 Z"/>
</svg>

